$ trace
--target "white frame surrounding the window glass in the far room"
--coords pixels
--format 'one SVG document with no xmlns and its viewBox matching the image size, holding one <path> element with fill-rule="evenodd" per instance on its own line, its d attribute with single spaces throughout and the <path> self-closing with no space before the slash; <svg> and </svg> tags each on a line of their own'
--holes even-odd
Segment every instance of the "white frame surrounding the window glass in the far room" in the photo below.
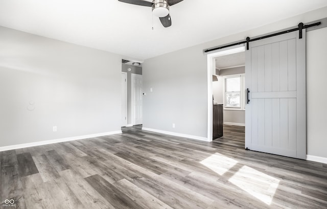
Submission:
<svg viewBox="0 0 327 209">
<path fill-rule="evenodd" d="M 226 107 L 226 79 L 228 78 L 238 78 L 240 79 L 240 107 Z M 224 104 L 224 110 L 245 110 L 245 74 L 234 74 L 234 75 L 228 75 L 223 76 L 223 104 Z"/>
</svg>

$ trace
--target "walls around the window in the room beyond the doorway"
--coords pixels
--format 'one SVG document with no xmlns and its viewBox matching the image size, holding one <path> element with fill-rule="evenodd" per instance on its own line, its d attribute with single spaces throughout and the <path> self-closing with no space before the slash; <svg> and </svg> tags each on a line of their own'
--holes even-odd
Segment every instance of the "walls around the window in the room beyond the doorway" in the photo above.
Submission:
<svg viewBox="0 0 327 209">
<path fill-rule="evenodd" d="M 219 73 L 219 79 L 221 86 L 213 85 L 213 94 L 214 97 L 221 97 L 221 104 L 223 103 L 223 85 L 224 79 L 223 76 L 235 75 L 235 74 L 244 74 L 245 73 L 245 66 L 242 67 L 233 67 L 228 69 L 221 69 L 220 71 L 216 71 Z M 219 82 L 219 80 L 218 80 Z M 215 83 L 215 82 L 213 82 Z M 225 123 L 237 123 L 237 124 L 245 124 L 245 111 L 244 110 L 230 110 L 224 109 L 224 122 Z"/>
</svg>

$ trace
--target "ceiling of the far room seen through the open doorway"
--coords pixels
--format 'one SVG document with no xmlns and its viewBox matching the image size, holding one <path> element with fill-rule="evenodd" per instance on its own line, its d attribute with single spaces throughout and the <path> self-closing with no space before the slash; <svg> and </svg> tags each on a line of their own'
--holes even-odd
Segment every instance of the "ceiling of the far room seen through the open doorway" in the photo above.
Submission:
<svg viewBox="0 0 327 209">
<path fill-rule="evenodd" d="M 216 68 L 224 69 L 245 65 L 245 52 L 216 57 Z"/>
</svg>

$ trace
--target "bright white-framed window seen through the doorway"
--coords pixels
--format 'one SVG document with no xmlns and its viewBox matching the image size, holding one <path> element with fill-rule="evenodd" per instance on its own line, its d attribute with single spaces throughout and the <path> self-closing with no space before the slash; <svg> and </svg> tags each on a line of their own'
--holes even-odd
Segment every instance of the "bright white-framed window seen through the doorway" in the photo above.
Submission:
<svg viewBox="0 0 327 209">
<path fill-rule="evenodd" d="M 245 109 L 244 74 L 224 76 L 224 108 Z"/>
</svg>

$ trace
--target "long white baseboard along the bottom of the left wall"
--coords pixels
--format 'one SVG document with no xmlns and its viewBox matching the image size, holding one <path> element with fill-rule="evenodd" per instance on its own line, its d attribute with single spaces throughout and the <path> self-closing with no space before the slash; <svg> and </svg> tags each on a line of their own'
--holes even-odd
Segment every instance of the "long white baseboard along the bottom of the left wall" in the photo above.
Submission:
<svg viewBox="0 0 327 209">
<path fill-rule="evenodd" d="M 73 137 L 66 137 L 66 138 L 58 138 L 56 140 L 47 140 L 47 141 L 41 141 L 41 142 L 32 142 L 32 143 L 26 143 L 26 144 L 19 144 L 19 145 L 10 145 L 5 147 L 0 147 L 1 151 L 7 151 L 7 150 L 15 150 L 15 149 L 21 149 L 21 148 L 27 148 L 27 147 L 35 147 L 40 145 L 49 145 L 59 142 L 68 142 L 68 141 L 74 141 L 74 140 L 83 140 L 84 138 L 92 138 L 92 137 L 98 137 L 98 136 L 106 136 L 106 135 L 112 135 L 122 133 L 122 131 L 110 131 L 110 132 L 104 132 L 104 133 L 95 133 L 95 134 L 89 134 L 89 135 L 82 135 L 82 136 L 73 136 Z"/>
</svg>

